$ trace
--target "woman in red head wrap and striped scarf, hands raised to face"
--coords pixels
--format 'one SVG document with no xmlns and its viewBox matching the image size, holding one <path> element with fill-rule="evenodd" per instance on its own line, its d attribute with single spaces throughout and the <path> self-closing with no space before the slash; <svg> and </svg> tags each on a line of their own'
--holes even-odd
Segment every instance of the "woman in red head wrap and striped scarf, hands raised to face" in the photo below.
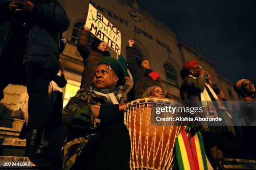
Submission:
<svg viewBox="0 0 256 170">
<path fill-rule="evenodd" d="M 204 107 L 205 117 L 222 117 L 223 120 L 228 121 L 229 125 L 232 124 L 230 120 L 231 116 L 226 108 L 220 102 L 216 102 L 216 104 L 211 102 L 218 101 L 218 96 L 212 89 L 210 74 L 200 67 L 197 61 L 185 62 L 180 74 L 183 78 L 180 88 L 182 100 L 201 101 Z M 228 151 L 231 154 L 236 153 L 234 148 L 238 146 L 238 143 L 234 134 L 235 130 L 233 126 L 209 126 L 208 128 L 207 125 L 204 126 L 202 130 L 203 140 L 205 147 L 210 148 L 212 161 L 215 162 L 215 168 L 220 168 L 219 163 L 221 158 L 223 158 L 223 151 Z M 230 140 L 233 140 L 232 145 L 229 142 Z"/>
</svg>

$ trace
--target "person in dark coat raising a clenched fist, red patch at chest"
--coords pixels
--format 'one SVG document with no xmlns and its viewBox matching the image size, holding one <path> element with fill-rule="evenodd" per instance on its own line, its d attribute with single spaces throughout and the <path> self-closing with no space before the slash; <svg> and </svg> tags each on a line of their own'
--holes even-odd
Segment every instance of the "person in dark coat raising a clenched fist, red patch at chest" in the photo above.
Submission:
<svg viewBox="0 0 256 170">
<path fill-rule="evenodd" d="M 128 40 L 129 46 L 127 50 L 127 63 L 131 74 L 133 75 L 134 86 L 129 93 L 129 101 L 143 97 L 143 93 L 148 87 L 160 86 L 160 74 L 154 70 L 150 70 L 148 60 L 140 61 L 140 65 L 135 57 L 134 41 Z"/>
</svg>

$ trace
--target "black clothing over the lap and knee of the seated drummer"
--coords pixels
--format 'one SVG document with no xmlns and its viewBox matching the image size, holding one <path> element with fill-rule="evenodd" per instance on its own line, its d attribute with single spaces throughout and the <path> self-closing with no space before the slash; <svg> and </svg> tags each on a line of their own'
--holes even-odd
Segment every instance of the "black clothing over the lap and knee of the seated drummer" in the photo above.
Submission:
<svg viewBox="0 0 256 170">
<path fill-rule="evenodd" d="M 72 170 L 129 170 L 130 151 L 126 126 L 113 123 L 89 140 Z"/>
</svg>

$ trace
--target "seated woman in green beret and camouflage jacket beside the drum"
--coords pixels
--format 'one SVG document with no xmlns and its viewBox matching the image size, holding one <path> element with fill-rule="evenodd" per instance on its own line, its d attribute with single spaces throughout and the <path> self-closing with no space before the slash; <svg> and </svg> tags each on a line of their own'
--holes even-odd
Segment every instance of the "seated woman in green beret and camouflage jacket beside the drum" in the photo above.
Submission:
<svg viewBox="0 0 256 170">
<path fill-rule="evenodd" d="M 130 137 L 123 123 L 120 82 L 124 70 L 102 57 L 90 88 L 80 89 L 63 109 L 69 135 L 63 147 L 64 170 L 129 169 Z"/>
</svg>

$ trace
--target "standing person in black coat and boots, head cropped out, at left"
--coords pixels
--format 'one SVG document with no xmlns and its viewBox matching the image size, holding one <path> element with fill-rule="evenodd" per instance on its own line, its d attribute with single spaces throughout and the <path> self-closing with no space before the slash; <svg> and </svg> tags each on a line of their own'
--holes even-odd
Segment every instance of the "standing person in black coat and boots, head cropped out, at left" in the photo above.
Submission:
<svg viewBox="0 0 256 170">
<path fill-rule="evenodd" d="M 0 99 L 9 84 L 27 85 L 28 134 L 25 154 L 44 154 L 41 146 L 49 105 L 48 85 L 62 87 L 59 71 L 61 34 L 69 19 L 56 0 L 0 2 Z"/>
</svg>

